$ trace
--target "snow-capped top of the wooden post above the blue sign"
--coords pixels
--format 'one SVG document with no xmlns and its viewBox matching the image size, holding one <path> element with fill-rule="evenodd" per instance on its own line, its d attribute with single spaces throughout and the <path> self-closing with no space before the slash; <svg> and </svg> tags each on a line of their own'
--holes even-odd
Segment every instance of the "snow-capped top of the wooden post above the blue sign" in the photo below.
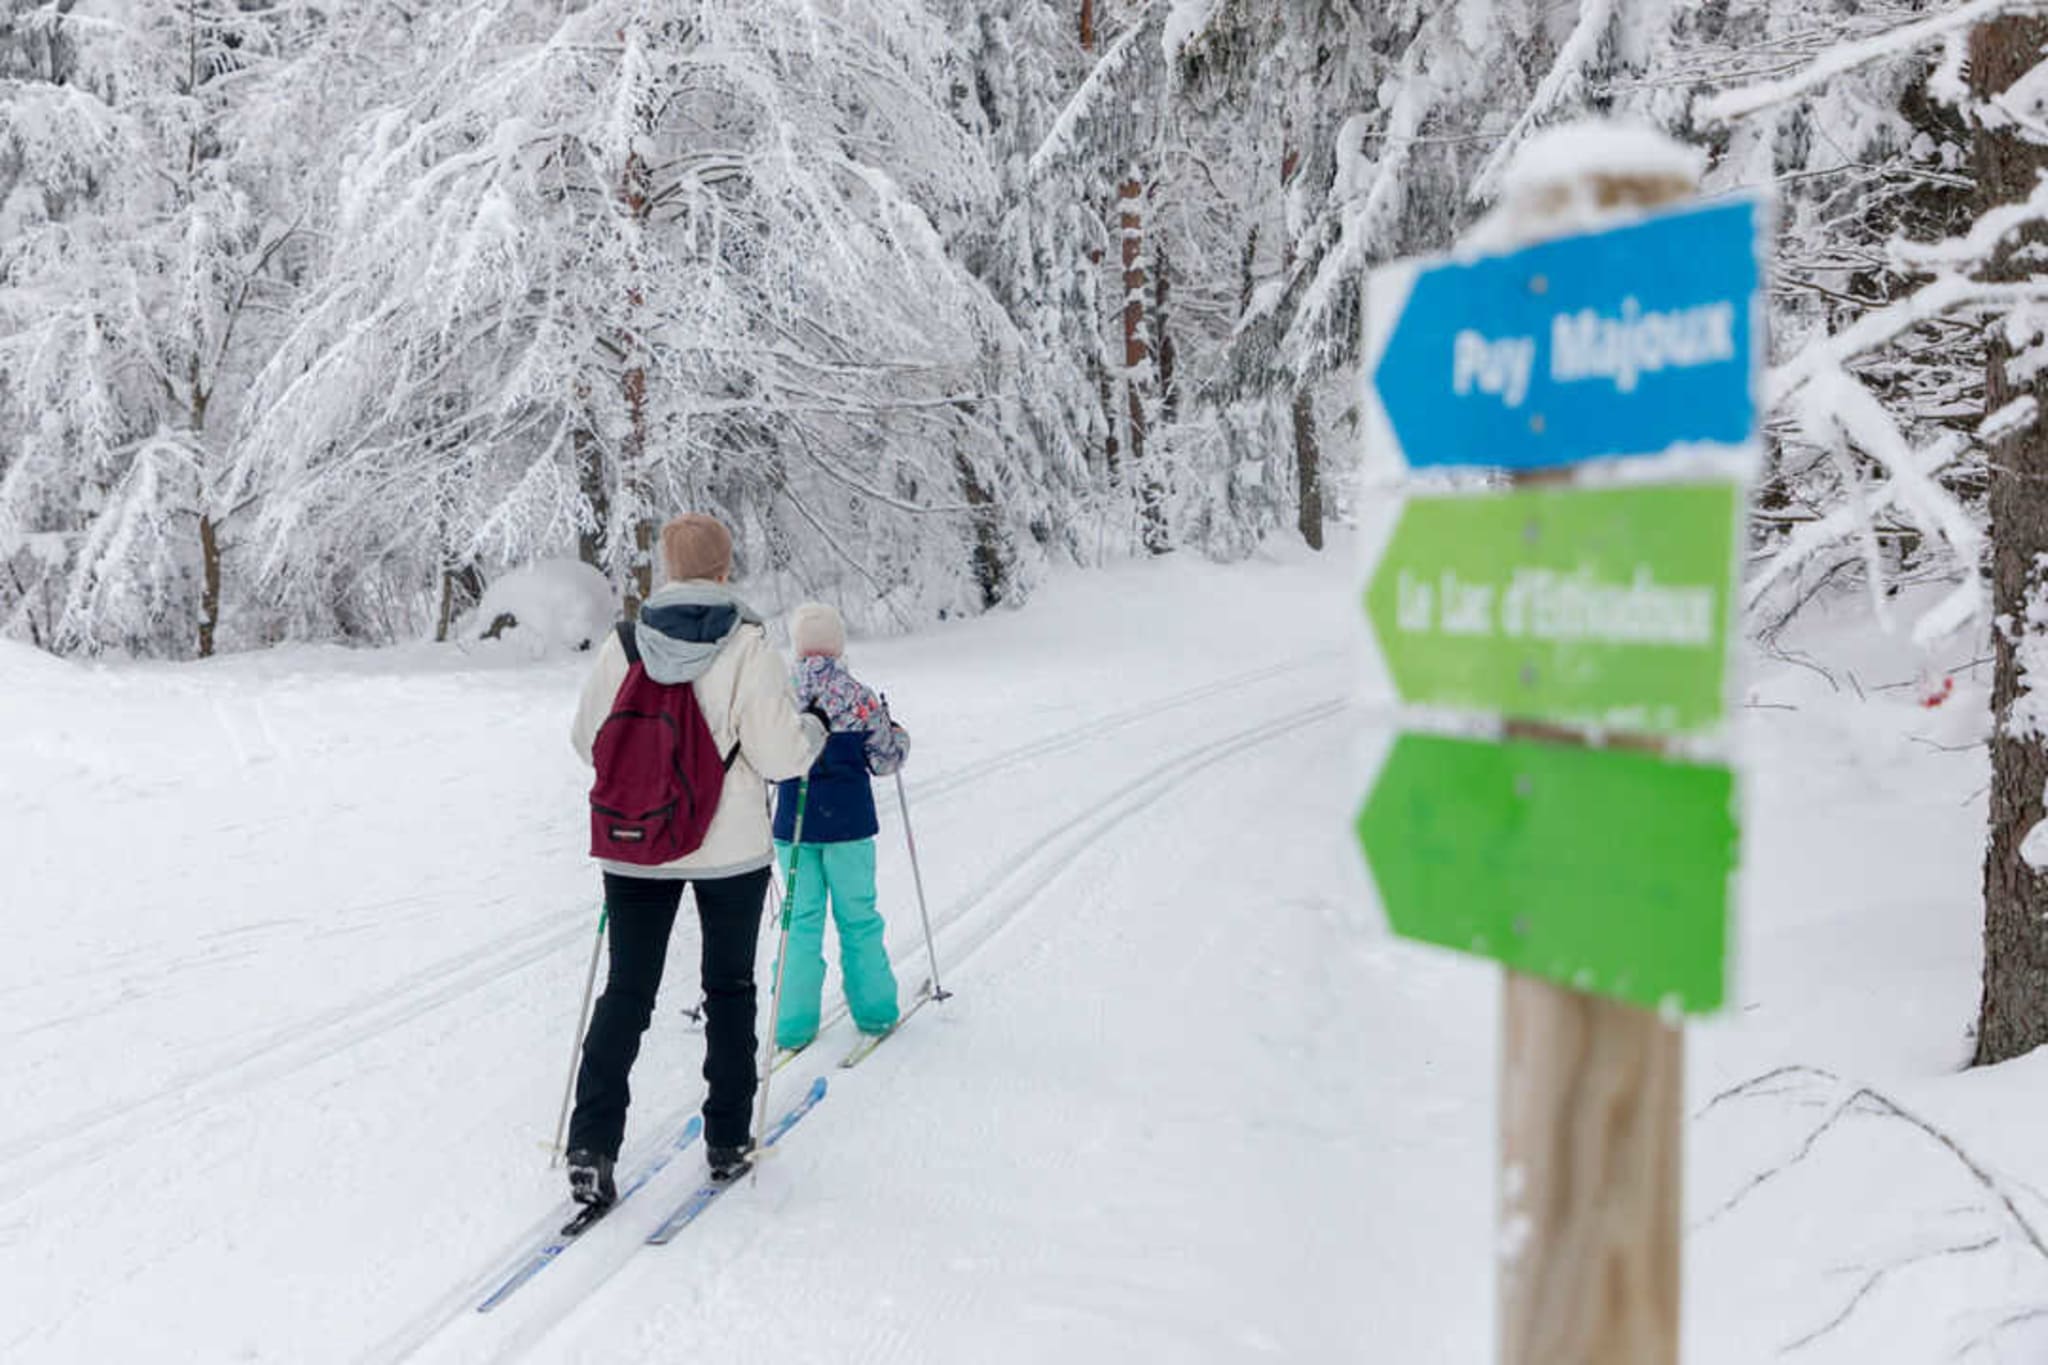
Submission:
<svg viewBox="0 0 2048 1365">
<path fill-rule="evenodd" d="M 1706 151 L 1642 123 L 1581 119 L 1530 137 L 1501 176 L 1487 235 L 1569 229 L 1700 190 Z"/>
</svg>

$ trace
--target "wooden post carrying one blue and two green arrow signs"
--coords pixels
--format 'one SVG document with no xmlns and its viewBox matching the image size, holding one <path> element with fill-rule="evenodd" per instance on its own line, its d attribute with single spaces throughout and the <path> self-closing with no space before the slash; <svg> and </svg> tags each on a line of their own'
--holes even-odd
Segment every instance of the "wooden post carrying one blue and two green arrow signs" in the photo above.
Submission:
<svg viewBox="0 0 2048 1365">
<path fill-rule="evenodd" d="M 1767 209 L 1647 213 L 1690 190 L 1587 178 L 1552 199 L 1604 201 L 1602 231 L 1368 287 L 1368 438 L 1407 497 L 1362 604 L 1399 735 L 1358 837 L 1397 933 L 1507 968 L 1501 1363 L 1675 1365 L 1679 1021 L 1726 999 Z"/>
</svg>

